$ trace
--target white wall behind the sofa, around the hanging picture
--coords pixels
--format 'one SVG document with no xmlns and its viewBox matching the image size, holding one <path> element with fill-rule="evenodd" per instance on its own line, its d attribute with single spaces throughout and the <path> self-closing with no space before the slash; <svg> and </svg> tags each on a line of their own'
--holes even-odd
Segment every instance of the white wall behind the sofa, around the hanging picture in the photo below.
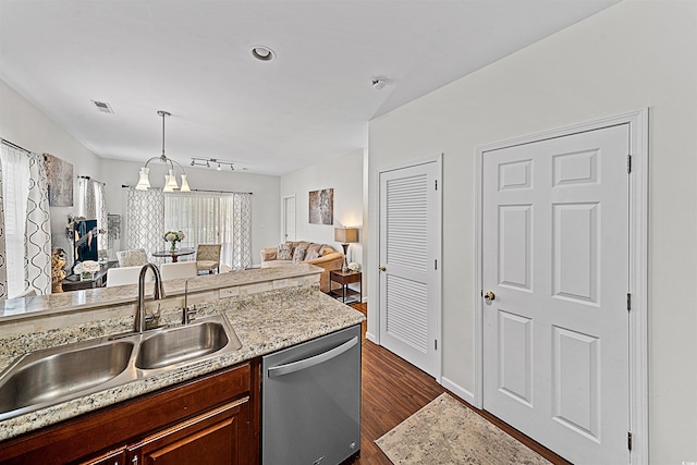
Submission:
<svg viewBox="0 0 697 465">
<path fill-rule="evenodd" d="M 334 242 L 334 228 L 358 227 L 360 242 L 348 247 L 348 261 L 360 265 L 364 264 L 363 159 L 364 150 L 357 150 L 281 176 L 281 197 L 295 196 L 296 238 L 329 244 L 341 252 L 341 244 Z M 323 188 L 334 189 L 334 224 L 310 224 L 309 193 Z M 278 203 L 280 201 L 279 197 Z M 282 224 L 279 227 L 276 242 L 269 244 L 269 247 L 278 244 L 281 236 L 280 228 Z"/>
</svg>

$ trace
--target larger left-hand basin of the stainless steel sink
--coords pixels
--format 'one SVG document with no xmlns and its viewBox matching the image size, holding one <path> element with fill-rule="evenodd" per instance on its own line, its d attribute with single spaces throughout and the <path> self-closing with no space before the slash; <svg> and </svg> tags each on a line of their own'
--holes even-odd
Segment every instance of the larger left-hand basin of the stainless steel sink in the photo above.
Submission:
<svg viewBox="0 0 697 465">
<path fill-rule="evenodd" d="M 113 341 L 29 354 L 3 377 L 0 413 L 51 403 L 102 384 L 126 369 L 134 346 L 132 341 Z"/>
</svg>

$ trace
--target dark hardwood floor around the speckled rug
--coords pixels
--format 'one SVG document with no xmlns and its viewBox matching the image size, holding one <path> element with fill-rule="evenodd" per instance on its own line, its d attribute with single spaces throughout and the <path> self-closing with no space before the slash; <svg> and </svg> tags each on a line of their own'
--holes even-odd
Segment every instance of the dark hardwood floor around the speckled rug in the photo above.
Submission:
<svg viewBox="0 0 697 465">
<path fill-rule="evenodd" d="M 353 304 L 357 310 L 367 313 L 366 304 Z M 449 392 L 433 378 L 406 363 L 390 351 L 365 340 L 366 323 L 363 323 L 362 369 L 362 430 L 360 454 L 348 461 L 352 465 L 391 464 L 375 444 L 375 440 L 416 413 L 443 392 Z M 455 394 L 449 392 L 454 399 Z M 494 416 L 472 407 L 505 432 L 526 444 L 553 464 L 571 465 L 568 462 L 513 429 Z"/>
</svg>

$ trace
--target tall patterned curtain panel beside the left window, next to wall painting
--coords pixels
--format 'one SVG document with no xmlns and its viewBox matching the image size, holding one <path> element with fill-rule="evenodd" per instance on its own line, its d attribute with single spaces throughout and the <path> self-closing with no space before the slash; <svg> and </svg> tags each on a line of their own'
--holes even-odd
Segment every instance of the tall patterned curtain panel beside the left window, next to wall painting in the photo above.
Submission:
<svg viewBox="0 0 697 465">
<path fill-rule="evenodd" d="M 51 218 L 48 208 L 48 176 L 41 154 L 29 155 L 29 196 L 24 248 L 25 287 L 33 287 L 38 294 L 50 294 Z"/>
</svg>

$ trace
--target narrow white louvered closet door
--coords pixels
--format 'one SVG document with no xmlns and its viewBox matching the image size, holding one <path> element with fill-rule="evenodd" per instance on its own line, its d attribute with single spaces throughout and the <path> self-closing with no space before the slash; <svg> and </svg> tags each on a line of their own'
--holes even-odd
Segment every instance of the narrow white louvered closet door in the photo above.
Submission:
<svg viewBox="0 0 697 465">
<path fill-rule="evenodd" d="M 437 371 L 436 162 L 380 173 L 380 344 Z"/>
</svg>

